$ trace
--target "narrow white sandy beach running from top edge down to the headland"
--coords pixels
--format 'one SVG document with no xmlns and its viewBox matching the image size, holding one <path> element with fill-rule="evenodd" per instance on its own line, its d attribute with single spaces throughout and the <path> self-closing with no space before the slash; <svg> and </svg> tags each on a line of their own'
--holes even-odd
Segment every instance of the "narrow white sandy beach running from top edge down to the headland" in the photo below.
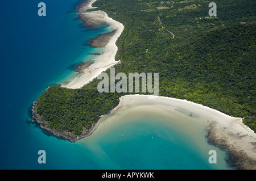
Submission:
<svg viewBox="0 0 256 181">
<path fill-rule="evenodd" d="M 84 73 L 82 73 L 79 77 L 74 79 L 71 83 L 68 85 L 64 85 L 63 87 L 67 87 L 69 89 L 79 89 L 82 86 L 86 85 L 86 83 L 89 83 L 94 78 L 96 78 L 102 71 L 105 71 L 109 68 L 111 68 L 113 65 L 118 64 L 119 61 L 115 61 L 115 54 L 117 53 L 117 45 L 115 45 L 115 41 L 117 41 L 118 37 L 121 35 L 123 31 L 123 25 L 112 18 L 109 18 L 109 16 L 104 11 L 86 11 L 88 9 L 93 8 L 92 3 L 96 0 L 90 1 L 88 6 L 82 7 L 82 10 L 80 10 L 80 14 L 84 14 L 86 16 L 93 16 L 94 20 L 101 21 L 109 23 L 110 28 L 115 31 L 115 34 L 110 38 L 109 43 L 105 47 L 105 52 L 100 56 L 99 60 L 94 62 L 92 65 L 90 65 L 88 68 L 84 69 Z"/>
</svg>

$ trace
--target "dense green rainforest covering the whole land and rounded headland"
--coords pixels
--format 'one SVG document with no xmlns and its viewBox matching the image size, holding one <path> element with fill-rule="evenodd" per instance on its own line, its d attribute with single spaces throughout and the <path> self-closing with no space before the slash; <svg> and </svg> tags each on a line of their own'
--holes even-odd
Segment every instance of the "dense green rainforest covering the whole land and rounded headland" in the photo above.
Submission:
<svg viewBox="0 0 256 181">
<path fill-rule="evenodd" d="M 115 73 L 159 73 L 159 96 L 243 117 L 255 132 L 256 1 L 214 1 L 215 17 L 208 15 L 210 2 L 97 0 L 93 6 L 125 26 Z M 100 81 L 76 90 L 50 86 L 36 102 L 40 118 L 80 135 L 130 94 L 100 93 Z"/>
</svg>

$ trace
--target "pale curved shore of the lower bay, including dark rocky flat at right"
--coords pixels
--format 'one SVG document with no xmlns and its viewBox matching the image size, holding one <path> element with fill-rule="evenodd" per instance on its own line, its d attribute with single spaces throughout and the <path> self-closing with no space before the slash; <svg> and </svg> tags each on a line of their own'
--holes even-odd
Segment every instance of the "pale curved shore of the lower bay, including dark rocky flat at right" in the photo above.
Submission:
<svg viewBox="0 0 256 181">
<path fill-rule="evenodd" d="M 256 169 L 256 133 L 242 123 L 242 118 L 232 117 L 214 110 L 213 108 L 193 103 L 187 100 L 168 98 L 154 95 L 125 95 L 120 98 L 118 110 L 123 106 L 144 104 L 142 110 L 151 109 L 150 104 L 156 104 L 158 110 L 167 110 L 171 107 L 184 110 L 210 121 L 207 128 L 208 144 L 217 146 L 226 152 L 226 162 L 234 169 Z M 154 107 L 152 107 L 154 111 Z M 161 111 L 157 112 L 161 113 Z"/>
</svg>

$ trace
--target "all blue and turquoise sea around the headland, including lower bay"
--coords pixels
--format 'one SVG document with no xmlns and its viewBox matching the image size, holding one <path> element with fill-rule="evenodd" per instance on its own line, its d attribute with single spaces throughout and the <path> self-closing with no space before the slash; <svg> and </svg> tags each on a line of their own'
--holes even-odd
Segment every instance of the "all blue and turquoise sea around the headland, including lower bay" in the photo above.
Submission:
<svg viewBox="0 0 256 181">
<path fill-rule="evenodd" d="M 207 144 L 204 127 L 200 141 L 192 139 L 170 117 L 117 112 L 76 143 L 28 124 L 31 104 L 48 85 L 75 77 L 71 65 L 96 60 L 88 54 L 101 49 L 85 45 L 109 31 L 81 26 L 74 11 L 79 0 L 44 0 L 46 17 L 38 16 L 39 2 L 0 1 L 0 169 L 227 169 L 225 153 Z M 209 164 L 209 149 L 217 150 L 218 164 Z M 46 164 L 38 163 L 39 150 L 46 151 Z"/>
</svg>

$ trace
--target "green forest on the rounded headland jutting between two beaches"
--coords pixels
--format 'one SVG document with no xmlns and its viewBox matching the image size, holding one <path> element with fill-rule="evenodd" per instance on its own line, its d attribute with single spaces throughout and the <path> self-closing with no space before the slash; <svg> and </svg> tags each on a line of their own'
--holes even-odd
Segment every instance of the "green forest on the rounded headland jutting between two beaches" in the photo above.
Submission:
<svg viewBox="0 0 256 181">
<path fill-rule="evenodd" d="M 118 98 L 114 93 L 99 94 L 93 89 L 49 86 L 36 101 L 36 112 L 41 120 L 47 120 L 47 127 L 80 135 L 97 123 L 101 115 L 116 107 Z"/>
</svg>

